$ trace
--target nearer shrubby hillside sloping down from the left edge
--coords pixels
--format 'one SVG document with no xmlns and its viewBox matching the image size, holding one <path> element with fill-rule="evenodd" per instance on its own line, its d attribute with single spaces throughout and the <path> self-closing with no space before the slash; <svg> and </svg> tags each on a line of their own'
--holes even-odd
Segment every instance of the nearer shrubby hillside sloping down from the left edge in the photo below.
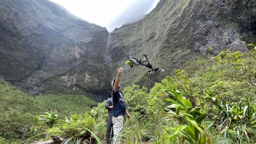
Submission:
<svg viewBox="0 0 256 144">
<path fill-rule="evenodd" d="M 16 142 L 32 125 L 34 115 L 46 112 L 31 95 L 0 79 L 0 137 Z M 13 139 L 13 140 L 12 140 Z"/>
</svg>

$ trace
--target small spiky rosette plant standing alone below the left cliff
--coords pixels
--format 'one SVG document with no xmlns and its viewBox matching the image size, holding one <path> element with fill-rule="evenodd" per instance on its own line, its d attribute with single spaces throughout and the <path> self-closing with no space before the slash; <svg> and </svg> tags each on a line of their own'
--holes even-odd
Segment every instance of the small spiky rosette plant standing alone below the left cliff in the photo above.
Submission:
<svg viewBox="0 0 256 144">
<path fill-rule="evenodd" d="M 50 113 L 45 112 L 44 115 L 39 115 L 38 119 L 44 121 L 50 128 L 52 128 L 59 117 L 56 113 L 57 111 L 51 111 Z"/>
</svg>

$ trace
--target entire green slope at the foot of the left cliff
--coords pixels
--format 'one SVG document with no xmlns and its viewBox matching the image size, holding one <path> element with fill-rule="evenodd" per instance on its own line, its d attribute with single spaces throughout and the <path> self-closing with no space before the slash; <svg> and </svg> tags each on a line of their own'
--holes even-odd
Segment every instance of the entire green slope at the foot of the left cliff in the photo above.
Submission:
<svg viewBox="0 0 256 144">
<path fill-rule="evenodd" d="M 50 111 L 58 111 L 60 118 L 71 114 L 85 114 L 96 102 L 77 95 L 40 95 L 32 97 L 0 78 L 0 143 L 20 143 L 32 137 L 31 127 L 36 115 L 45 118 Z M 50 115 L 48 115 L 48 118 Z"/>
</svg>

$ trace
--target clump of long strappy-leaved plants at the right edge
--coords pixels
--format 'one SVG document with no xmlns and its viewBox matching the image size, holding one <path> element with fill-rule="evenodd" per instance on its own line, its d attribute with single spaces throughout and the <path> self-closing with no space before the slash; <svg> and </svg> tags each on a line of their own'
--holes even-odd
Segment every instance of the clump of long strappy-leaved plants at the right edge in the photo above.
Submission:
<svg viewBox="0 0 256 144">
<path fill-rule="evenodd" d="M 256 135 L 256 111 L 254 105 L 250 104 L 248 100 L 246 104 L 243 104 L 242 101 L 223 103 L 219 102 L 218 97 L 214 96 L 211 91 L 204 92 L 204 99 L 216 107 L 209 108 L 214 113 L 214 117 L 211 118 L 213 119 L 211 125 L 215 123 L 224 137 L 249 141 L 249 137 Z"/>
</svg>

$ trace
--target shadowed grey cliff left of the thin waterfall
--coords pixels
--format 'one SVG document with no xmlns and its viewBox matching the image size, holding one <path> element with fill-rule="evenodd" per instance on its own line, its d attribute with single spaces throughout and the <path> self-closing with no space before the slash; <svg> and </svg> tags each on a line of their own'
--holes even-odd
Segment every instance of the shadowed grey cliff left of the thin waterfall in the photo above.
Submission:
<svg viewBox="0 0 256 144">
<path fill-rule="evenodd" d="M 0 0 L 0 75 L 25 91 L 105 98 L 108 32 L 48 0 Z"/>
</svg>

